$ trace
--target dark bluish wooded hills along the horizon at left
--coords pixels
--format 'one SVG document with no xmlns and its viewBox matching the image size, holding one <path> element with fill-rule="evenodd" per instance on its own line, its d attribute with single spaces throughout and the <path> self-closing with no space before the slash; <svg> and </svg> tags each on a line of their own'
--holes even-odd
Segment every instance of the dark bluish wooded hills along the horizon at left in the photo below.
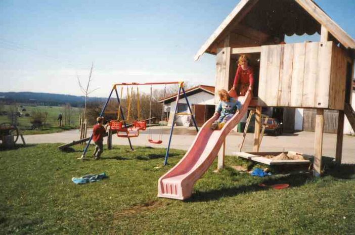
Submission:
<svg viewBox="0 0 355 235">
<path fill-rule="evenodd" d="M 0 92 L 1 101 L 7 104 L 30 103 L 45 106 L 59 106 L 69 103 L 72 107 L 82 107 L 85 97 L 39 92 Z M 106 98 L 90 97 L 89 101 L 104 102 Z"/>
</svg>

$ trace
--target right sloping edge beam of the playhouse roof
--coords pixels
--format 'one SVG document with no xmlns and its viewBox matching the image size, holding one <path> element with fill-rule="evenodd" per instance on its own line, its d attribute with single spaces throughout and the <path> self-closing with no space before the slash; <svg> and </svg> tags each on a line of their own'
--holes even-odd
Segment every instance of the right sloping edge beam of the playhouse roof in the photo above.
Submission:
<svg viewBox="0 0 355 235">
<path fill-rule="evenodd" d="M 295 0 L 304 10 L 324 26 L 346 48 L 355 48 L 355 41 L 337 25 L 317 4 L 309 0 Z"/>
</svg>

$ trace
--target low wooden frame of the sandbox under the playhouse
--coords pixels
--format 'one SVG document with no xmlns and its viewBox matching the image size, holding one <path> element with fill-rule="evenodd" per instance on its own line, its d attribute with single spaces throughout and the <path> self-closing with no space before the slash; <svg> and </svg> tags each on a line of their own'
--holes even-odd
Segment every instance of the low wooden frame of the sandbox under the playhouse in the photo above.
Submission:
<svg viewBox="0 0 355 235">
<path fill-rule="evenodd" d="M 289 151 L 291 152 L 291 151 Z M 251 153 L 245 153 L 245 152 L 235 152 L 233 153 L 233 155 L 244 158 L 244 159 L 248 159 L 251 161 L 255 161 L 255 162 L 259 162 L 259 163 L 263 163 L 263 164 L 267 164 L 270 166 L 273 165 L 301 165 L 301 164 L 305 164 L 305 165 L 309 165 L 310 164 L 310 158 L 313 158 L 313 156 L 310 155 L 305 155 L 302 154 L 303 158 L 306 158 L 307 160 L 273 160 L 270 158 L 265 158 L 263 156 L 266 155 L 273 155 L 273 156 L 277 156 L 279 154 L 281 154 L 283 152 L 251 152 Z M 293 152 L 296 153 L 296 152 Z M 299 154 L 299 153 L 297 153 Z"/>
</svg>

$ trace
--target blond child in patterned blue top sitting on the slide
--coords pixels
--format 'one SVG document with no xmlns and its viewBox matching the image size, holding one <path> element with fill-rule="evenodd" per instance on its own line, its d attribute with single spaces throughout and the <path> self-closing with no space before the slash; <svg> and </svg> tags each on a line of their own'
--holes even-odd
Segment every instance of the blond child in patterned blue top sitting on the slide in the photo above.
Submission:
<svg viewBox="0 0 355 235">
<path fill-rule="evenodd" d="M 220 101 L 214 114 L 219 114 L 219 118 L 212 123 L 212 130 L 221 129 L 242 106 L 238 100 L 230 97 L 225 89 L 219 90 L 218 96 Z"/>
</svg>

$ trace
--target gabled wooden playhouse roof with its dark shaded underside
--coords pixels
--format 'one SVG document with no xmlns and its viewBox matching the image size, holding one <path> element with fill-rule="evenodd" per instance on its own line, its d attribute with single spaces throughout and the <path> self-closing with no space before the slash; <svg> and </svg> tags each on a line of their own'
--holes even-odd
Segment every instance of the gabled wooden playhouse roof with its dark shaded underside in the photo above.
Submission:
<svg viewBox="0 0 355 235">
<path fill-rule="evenodd" d="M 238 48 L 262 45 L 284 34 L 320 34 L 321 25 L 345 48 L 355 49 L 355 40 L 312 0 L 241 0 L 201 46 L 195 60 L 205 52 L 215 55 L 228 34 L 233 35 L 230 46 Z"/>
</svg>

